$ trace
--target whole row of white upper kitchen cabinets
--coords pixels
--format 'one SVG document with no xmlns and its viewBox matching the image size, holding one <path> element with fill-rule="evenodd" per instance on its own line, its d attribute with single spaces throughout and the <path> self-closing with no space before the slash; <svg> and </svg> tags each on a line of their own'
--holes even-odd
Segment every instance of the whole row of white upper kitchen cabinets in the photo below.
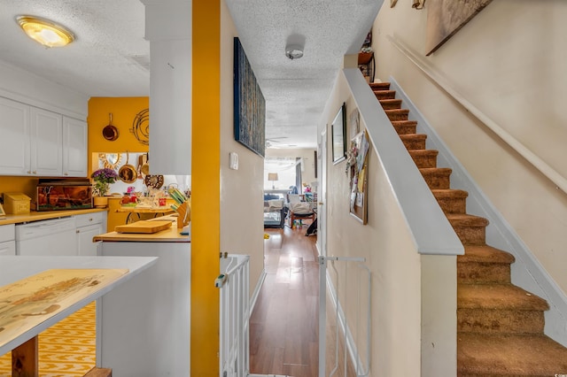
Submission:
<svg viewBox="0 0 567 377">
<path fill-rule="evenodd" d="M 87 123 L 0 97 L 0 175 L 87 176 Z"/>
</svg>

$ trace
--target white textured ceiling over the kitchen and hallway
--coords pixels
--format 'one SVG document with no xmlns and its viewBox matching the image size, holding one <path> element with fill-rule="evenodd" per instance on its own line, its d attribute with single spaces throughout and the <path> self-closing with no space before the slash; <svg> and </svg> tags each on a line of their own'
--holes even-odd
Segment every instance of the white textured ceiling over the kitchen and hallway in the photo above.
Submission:
<svg viewBox="0 0 567 377">
<path fill-rule="evenodd" d="M 315 148 L 316 127 L 343 57 L 356 53 L 380 0 L 226 0 L 266 98 L 273 147 Z M 150 45 L 140 0 L 0 0 L 0 60 L 87 96 L 148 96 Z M 76 35 L 45 49 L 24 35 L 16 15 L 51 19 Z M 303 58 L 286 42 L 305 41 Z"/>
</svg>

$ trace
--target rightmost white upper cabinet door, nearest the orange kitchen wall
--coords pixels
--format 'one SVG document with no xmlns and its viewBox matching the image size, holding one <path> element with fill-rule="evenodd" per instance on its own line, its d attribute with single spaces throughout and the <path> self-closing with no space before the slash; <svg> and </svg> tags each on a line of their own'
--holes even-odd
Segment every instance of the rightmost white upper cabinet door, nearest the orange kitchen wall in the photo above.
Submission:
<svg viewBox="0 0 567 377">
<path fill-rule="evenodd" d="M 63 175 L 87 176 L 87 123 L 63 117 Z"/>
</svg>

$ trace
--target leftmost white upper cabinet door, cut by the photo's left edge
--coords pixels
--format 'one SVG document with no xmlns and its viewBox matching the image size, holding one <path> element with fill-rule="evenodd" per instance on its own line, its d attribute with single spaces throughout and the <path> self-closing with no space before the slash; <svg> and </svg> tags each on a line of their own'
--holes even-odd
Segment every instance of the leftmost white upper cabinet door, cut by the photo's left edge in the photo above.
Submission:
<svg viewBox="0 0 567 377">
<path fill-rule="evenodd" d="M 31 173 L 27 104 L 0 97 L 0 135 L 0 174 Z"/>
</svg>

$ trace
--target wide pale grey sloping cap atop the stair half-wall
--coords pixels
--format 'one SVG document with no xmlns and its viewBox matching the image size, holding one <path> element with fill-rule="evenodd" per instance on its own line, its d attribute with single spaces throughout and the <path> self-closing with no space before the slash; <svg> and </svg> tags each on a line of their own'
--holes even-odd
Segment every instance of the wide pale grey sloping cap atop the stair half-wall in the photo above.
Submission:
<svg viewBox="0 0 567 377">
<path fill-rule="evenodd" d="M 431 189 L 423 180 L 392 122 L 358 68 L 343 70 L 370 142 L 384 166 L 401 212 L 420 254 L 462 255 L 464 248 Z"/>
</svg>

